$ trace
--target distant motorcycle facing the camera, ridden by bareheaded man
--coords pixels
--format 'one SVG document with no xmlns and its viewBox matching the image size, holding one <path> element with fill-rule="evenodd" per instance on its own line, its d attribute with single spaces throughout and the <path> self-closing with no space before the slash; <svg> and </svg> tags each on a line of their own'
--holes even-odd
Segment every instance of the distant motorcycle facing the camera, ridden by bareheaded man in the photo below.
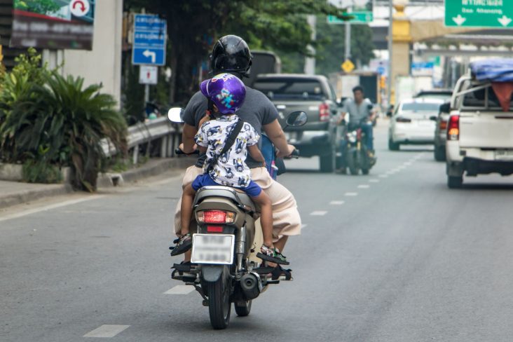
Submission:
<svg viewBox="0 0 513 342">
<path fill-rule="evenodd" d="M 365 135 L 362 132 L 362 125 L 367 124 L 367 119 L 357 124 L 350 124 L 346 119 L 344 121 L 347 124 L 343 125 L 343 139 L 341 139 L 340 144 L 341 149 L 344 149 L 343 162 L 345 167 L 348 167 L 351 175 L 358 175 L 360 170 L 362 170 L 363 175 L 369 175 L 371 167 L 376 164 L 376 158 L 369 156 L 367 145 L 363 143 Z"/>
</svg>

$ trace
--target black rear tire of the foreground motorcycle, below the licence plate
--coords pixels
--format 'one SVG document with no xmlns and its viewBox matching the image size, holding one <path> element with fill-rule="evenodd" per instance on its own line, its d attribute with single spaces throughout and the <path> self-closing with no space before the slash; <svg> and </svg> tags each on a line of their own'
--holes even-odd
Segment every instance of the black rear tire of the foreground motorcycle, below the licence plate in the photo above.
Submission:
<svg viewBox="0 0 513 342">
<path fill-rule="evenodd" d="M 207 283 L 210 324 L 217 330 L 226 329 L 230 323 L 230 286 L 225 272 L 217 281 Z"/>
</svg>

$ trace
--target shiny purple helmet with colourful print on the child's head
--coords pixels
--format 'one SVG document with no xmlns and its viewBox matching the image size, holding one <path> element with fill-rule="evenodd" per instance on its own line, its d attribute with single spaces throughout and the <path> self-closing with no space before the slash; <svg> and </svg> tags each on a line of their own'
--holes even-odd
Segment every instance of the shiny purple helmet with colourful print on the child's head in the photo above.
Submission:
<svg viewBox="0 0 513 342">
<path fill-rule="evenodd" d="M 222 114 L 238 111 L 246 97 L 246 87 L 232 74 L 219 74 L 200 84 L 203 95 L 212 100 Z"/>
</svg>

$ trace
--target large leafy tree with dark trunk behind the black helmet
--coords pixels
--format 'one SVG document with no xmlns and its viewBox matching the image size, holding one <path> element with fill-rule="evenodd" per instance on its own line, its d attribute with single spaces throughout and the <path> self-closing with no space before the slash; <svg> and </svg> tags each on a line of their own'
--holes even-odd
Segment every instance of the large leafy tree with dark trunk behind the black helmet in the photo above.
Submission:
<svg viewBox="0 0 513 342">
<path fill-rule="evenodd" d="M 202 62 L 220 36 L 238 34 L 252 49 L 306 55 L 311 39 L 305 15 L 339 15 L 325 0 L 125 0 L 125 10 L 141 8 L 167 19 L 171 101 L 182 103 L 198 90 Z"/>
</svg>

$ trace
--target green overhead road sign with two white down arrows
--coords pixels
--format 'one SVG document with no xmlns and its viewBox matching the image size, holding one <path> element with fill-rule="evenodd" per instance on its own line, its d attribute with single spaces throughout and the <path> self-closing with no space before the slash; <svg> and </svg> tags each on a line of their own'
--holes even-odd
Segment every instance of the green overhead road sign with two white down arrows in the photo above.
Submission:
<svg viewBox="0 0 513 342">
<path fill-rule="evenodd" d="M 445 25 L 513 29 L 512 0 L 445 0 Z"/>
</svg>

